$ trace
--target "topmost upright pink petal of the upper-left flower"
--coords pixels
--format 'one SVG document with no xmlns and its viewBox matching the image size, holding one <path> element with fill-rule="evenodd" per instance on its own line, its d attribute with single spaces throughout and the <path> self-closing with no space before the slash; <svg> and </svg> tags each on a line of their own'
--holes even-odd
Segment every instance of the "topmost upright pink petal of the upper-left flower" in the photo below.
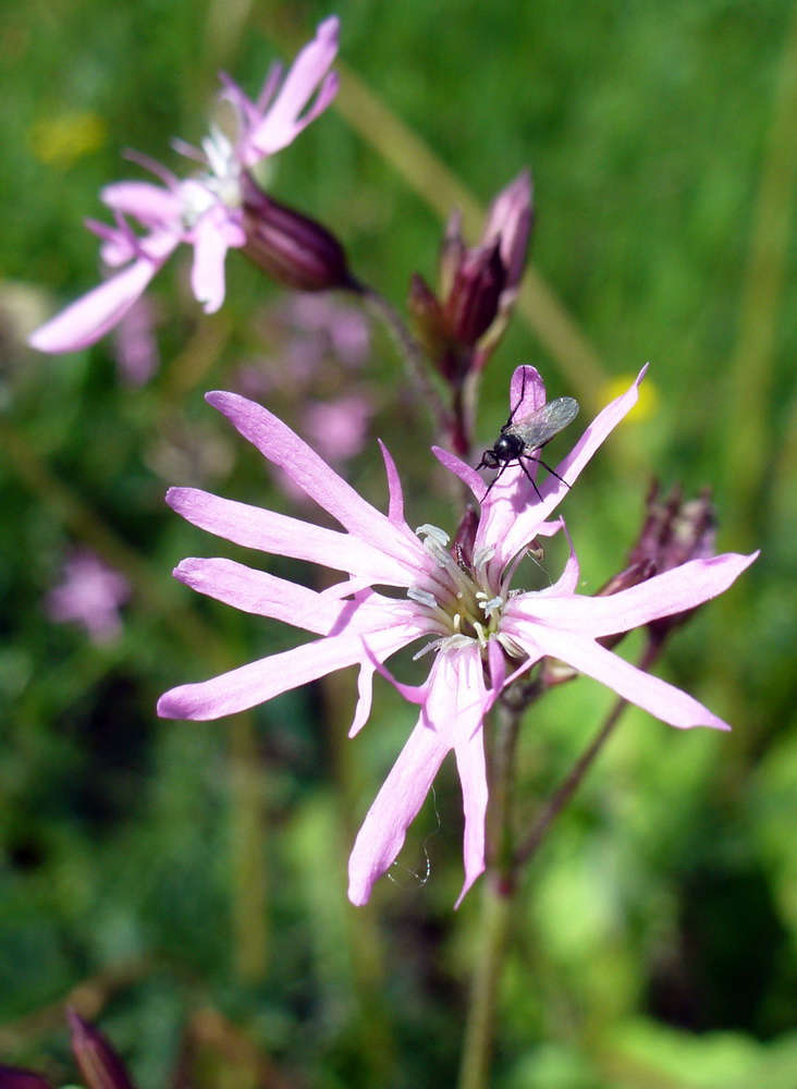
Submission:
<svg viewBox="0 0 797 1089">
<path fill-rule="evenodd" d="M 327 77 L 338 53 L 339 21 L 324 20 L 310 41 L 291 65 L 285 82 L 260 125 L 250 134 L 248 147 L 260 157 L 286 147 L 306 124 L 330 103 L 338 89 L 335 77 Z M 305 118 L 299 114 L 320 85 L 319 100 Z M 247 166 L 253 162 L 247 161 Z"/>
</svg>

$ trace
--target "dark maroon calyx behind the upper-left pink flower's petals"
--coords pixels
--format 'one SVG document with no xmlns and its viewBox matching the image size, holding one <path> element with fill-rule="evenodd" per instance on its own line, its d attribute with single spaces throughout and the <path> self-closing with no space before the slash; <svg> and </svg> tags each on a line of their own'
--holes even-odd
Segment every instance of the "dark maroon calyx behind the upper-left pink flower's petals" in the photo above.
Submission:
<svg viewBox="0 0 797 1089">
<path fill-rule="evenodd" d="M 326 227 L 268 196 L 247 173 L 241 192 L 243 252 L 258 268 L 297 291 L 361 291 L 343 246 Z"/>
</svg>

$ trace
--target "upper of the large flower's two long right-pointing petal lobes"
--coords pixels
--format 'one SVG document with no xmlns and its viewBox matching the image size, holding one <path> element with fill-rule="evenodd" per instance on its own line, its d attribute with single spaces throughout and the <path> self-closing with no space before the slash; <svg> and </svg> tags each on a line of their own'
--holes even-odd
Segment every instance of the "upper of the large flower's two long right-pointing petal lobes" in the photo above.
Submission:
<svg viewBox="0 0 797 1089">
<path fill-rule="evenodd" d="M 630 632 L 662 616 L 673 616 L 715 598 L 745 571 L 758 552 L 738 555 L 727 552 L 709 560 L 690 560 L 638 586 L 590 598 L 554 592 L 523 594 L 506 603 L 510 625 L 531 620 L 561 631 L 599 638 Z M 514 617 L 518 620 L 515 622 Z M 508 629 L 508 628 L 507 628 Z"/>
</svg>

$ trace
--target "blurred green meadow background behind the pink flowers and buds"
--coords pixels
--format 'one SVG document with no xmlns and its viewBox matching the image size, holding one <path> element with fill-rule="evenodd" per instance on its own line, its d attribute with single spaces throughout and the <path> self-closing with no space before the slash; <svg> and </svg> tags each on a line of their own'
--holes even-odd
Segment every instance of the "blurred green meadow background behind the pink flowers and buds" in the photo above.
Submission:
<svg viewBox="0 0 797 1089">
<path fill-rule="evenodd" d="M 518 363 L 592 413 L 651 362 L 642 409 L 564 506 L 585 592 L 623 566 L 652 475 L 687 494 L 712 485 L 720 550 L 762 550 L 659 666 L 734 733 L 626 713 L 531 866 L 493 1084 L 794 1089 L 793 5 L 357 0 L 336 11 L 340 109 L 279 157 L 272 188 L 334 229 L 359 274 L 403 304 L 413 271 L 434 277 L 441 210 L 485 206 L 532 168 L 535 271 L 487 377 L 480 441 L 505 418 Z M 228 301 L 205 318 L 181 252 L 149 296 L 160 365 L 135 388 L 112 338 L 61 358 L 23 343 L 97 282 L 82 220 L 101 217 L 101 185 L 142 176 L 121 152 L 177 169 L 169 142 L 201 138 L 217 72 L 254 93 L 329 13 L 269 0 L 0 10 L 0 1061 L 56 1080 L 74 1078 L 65 1001 L 101 1025 L 142 1089 L 454 1079 L 479 890 L 452 911 L 451 769 L 393 880 L 367 909 L 345 901 L 352 837 L 413 709 L 377 682 L 371 721 L 347 742 L 353 677 L 335 676 L 219 723 L 154 712 L 169 687 L 301 641 L 171 578 L 184 555 L 254 558 L 162 501 L 169 485 L 192 484 L 311 516 L 203 401 L 259 382 L 301 425 L 307 390 L 280 379 L 304 335 L 284 319 L 285 293 L 233 254 Z M 356 381 L 373 417 L 348 477 L 384 504 L 373 441 L 384 438 L 410 523 L 451 530 L 428 423 L 390 342 L 371 335 Z M 333 358 L 319 375 L 321 399 L 346 380 Z M 77 546 L 132 583 L 121 634 L 100 645 L 48 617 Z M 554 577 L 556 562 L 552 551 Z M 529 714 L 518 770 L 529 815 L 610 703 L 578 681 Z"/>
</svg>

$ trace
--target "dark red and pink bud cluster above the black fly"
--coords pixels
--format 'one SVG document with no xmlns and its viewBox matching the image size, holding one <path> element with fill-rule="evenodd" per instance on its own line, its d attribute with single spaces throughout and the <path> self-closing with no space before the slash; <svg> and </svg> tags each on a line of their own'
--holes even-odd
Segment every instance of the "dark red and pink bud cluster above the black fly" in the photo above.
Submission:
<svg viewBox="0 0 797 1089">
<path fill-rule="evenodd" d="M 478 246 L 466 246 L 454 212 L 440 254 L 436 294 L 416 273 L 409 309 L 430 359 L 453 387 L 483 369 L 510 319 L 531 233 L 531 180 L 519 174 L 492 201 Z"/>
</svg>

